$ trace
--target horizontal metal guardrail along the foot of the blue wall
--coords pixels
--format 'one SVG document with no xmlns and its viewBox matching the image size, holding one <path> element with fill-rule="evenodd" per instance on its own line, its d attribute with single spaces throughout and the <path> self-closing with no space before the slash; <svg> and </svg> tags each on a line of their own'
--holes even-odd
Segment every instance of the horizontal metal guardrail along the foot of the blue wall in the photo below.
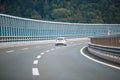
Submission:
<svg viewBox="0 0 120 80">
<path fill-rule="evenodd" d="M 53 40 L 57 37 L 84 38 L 86 35 L 45 35 L 45 36 L 0 36 L 0 42 L 15 42 L 15 41 L 38 41 L 38 40 Z"/>
</svg>

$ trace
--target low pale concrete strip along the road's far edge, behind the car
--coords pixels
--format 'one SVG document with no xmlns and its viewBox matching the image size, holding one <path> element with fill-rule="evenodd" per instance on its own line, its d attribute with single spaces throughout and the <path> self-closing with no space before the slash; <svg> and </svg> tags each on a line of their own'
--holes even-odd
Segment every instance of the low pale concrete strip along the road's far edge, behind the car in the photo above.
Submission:
<svg viewBox="0 0 120 80">
<path fill-rule="evenodd" d="M 89 40 L 88 38 L 75 38 L 67 39 L 67 42 L 76 42 L 81 40 Z M 9 48 L 9 47 L 19 47 L 19 46 L 39 46 L 39 45 L 48 45 L 55 44 L 56 40 L 41 40 L 41 41 L 14 41 L 14 42 L 1 42 L 0 48 Z"/>
</svg>

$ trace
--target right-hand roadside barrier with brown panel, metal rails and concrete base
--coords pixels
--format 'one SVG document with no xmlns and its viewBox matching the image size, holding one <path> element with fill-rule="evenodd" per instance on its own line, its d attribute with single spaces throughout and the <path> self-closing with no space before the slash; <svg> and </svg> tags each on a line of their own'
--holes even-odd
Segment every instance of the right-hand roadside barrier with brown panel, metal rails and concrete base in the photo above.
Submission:
<svg viewBox="0 0 120 80">
<path fill-rule="evenodd" d="M 120 63 L 119 37 L 119 35 L 91 37 L 91 43 L 88 44 L 88 51 L 100 58 Z M 104 41 L 108 42 L 105 43 Z"/>
</svg>

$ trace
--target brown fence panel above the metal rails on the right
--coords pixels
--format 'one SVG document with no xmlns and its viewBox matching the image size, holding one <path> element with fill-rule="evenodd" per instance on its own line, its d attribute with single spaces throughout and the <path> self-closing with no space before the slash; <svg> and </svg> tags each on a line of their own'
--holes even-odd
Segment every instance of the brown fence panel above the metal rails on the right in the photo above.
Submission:
<svg viewBox="0 0 120 80">
<path fill-rule="evenodd" d="M 92 44 L 120 47 L 120 34 L 91 37 L 90 41 Z"/>
</svg>

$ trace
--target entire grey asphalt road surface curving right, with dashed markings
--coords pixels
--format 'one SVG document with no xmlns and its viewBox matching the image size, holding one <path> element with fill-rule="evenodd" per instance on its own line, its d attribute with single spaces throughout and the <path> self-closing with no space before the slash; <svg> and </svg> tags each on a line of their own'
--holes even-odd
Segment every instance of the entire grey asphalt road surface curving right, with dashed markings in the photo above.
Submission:
<svg viewBox="0 0 120 80">
<path fill-rule="evenodd" d="M 87 42 L 0 49 L 0 80 L 119 80 L 119 70 L 81 55 Z"/>
</svg>

